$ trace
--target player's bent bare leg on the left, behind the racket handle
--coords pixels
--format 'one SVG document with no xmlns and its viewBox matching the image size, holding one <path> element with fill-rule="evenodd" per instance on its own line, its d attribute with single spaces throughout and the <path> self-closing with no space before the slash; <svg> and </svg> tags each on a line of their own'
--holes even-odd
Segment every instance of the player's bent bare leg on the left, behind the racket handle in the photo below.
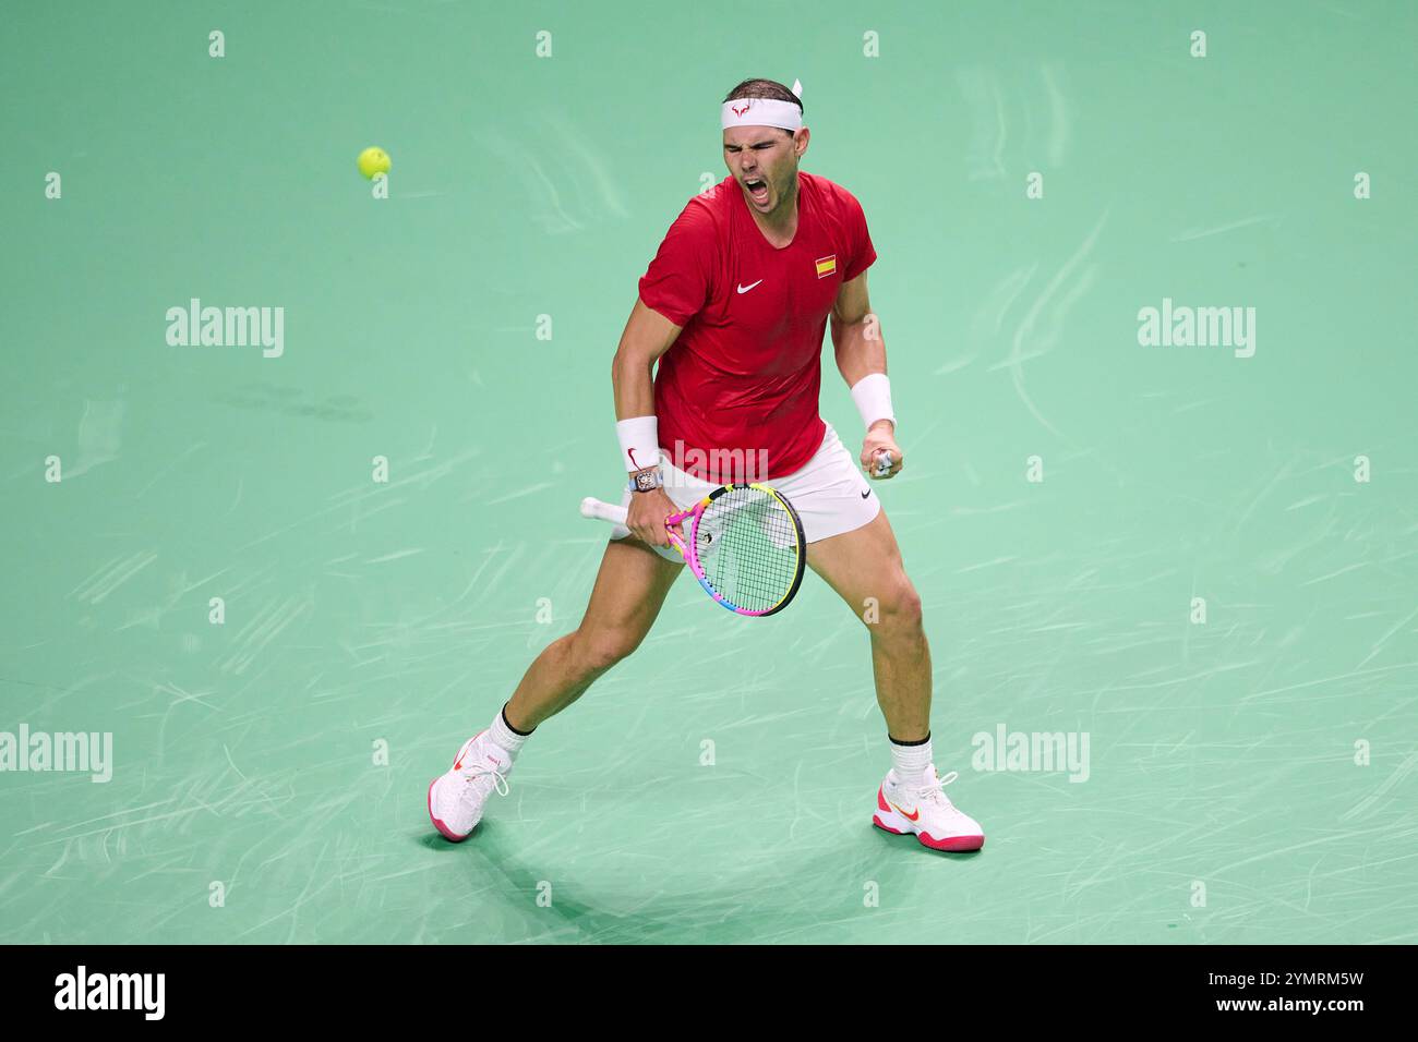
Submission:
<svg viewBox="0 0 1418 1042">
<path fill-rule="evenodd" d="M 581 625 L 549 644 L 527 668 L 508 702 L 508 723 L 530 732 L 581 698 L 605 671 L 635 651 L 683 567 L 634 536 L 613 540 L 601 557 Z"/>
</svg>

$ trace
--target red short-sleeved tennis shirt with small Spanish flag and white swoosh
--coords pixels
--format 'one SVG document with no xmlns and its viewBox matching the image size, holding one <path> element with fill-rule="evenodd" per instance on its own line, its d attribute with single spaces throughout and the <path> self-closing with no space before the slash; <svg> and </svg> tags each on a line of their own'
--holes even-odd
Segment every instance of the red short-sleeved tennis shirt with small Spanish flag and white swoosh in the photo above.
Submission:
<svg viewBox="0 0 1418 1042">
<path fill-rule="evenodd" d="M 659 359 L 655 415 L 671 462 L 705 481 L 737 452 L 754 481 L 800 469 L 822 444 L 822 335 L 842 282 L 876 259 L 861 203 L 798 172 L 798 227 L 763 237 L 733 177 L 695 196 L 640 281 L 640 299 L 682 332 Z M 752 455 L 750 455 L 752 454 Z"/>
</svg>

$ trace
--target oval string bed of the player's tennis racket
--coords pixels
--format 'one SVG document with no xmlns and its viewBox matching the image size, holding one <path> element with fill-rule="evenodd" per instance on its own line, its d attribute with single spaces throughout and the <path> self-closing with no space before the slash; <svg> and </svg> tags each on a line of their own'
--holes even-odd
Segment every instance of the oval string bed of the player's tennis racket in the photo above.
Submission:
<svg viewBox="0 0 1418 1042">
<path fill-rule="evenodd" d="M 798 576 L 798 529 L 777 496 L 753 488 L 718 496 L 695 540 L 705 580 L 746 611 L 777 607 Z"/>
</svg>

